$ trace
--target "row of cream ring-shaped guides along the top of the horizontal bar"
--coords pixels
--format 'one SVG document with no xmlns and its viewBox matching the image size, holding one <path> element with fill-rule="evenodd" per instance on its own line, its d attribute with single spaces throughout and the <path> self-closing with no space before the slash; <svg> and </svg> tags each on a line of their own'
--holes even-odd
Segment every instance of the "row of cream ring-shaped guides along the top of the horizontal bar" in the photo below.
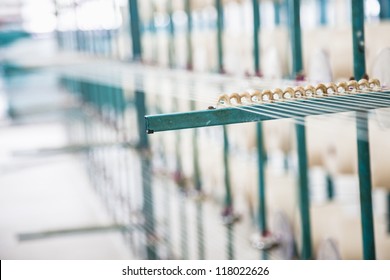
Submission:
<svg viewBox="0 0 390 280">
<path fill-rule="evenodd" d="M 284 90 L 276 88 L 274 90 L 248 90 L 244 93 L 222 94 L 218 98 L 217 104 L 220 106 L 229 105 L 250 105 L 256 103 L 289 100 L 296 98 L 323 97 L 331 95 L 348 94 L 355 92 L 380 91 L 381 84 L 378 79 L 361 79 L 359 81 L 350 80 L 348 82 L 318 84 L 316 86 L 307 85 L 305 87 L 287 87 Z"/>
</svg>

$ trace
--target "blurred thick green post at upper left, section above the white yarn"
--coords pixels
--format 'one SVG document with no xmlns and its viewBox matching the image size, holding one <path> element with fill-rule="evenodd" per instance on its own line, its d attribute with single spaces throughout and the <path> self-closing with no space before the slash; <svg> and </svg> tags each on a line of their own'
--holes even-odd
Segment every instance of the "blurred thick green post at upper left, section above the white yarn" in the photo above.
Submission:
<svg viewBox="0 0 390 280">
<path fill-rule="evenodd" d="M 140 20 L 138 14 L 138 1 L 129 0 L 129 12 L 130 12 L 130 30 L 131 30 L 131 42 L 133 47 L 133 59 L 140 61 L 142 59 L 142 47 L 141 47 L 141 30 Z"/>
</svg>

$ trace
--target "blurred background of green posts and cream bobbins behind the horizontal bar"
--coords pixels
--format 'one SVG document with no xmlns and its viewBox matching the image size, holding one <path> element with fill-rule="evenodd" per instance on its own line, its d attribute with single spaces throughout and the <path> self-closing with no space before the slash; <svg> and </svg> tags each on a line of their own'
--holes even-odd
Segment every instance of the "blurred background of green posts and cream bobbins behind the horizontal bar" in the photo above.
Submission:
<svg viewBox="0 0 390 280">
<path fill-rule="evenodd" d="M 363 72 L 387 91 L 388 0 L 0 0 L 0 258 L 390 259 L 386 108 L 368 117 L 372 219 L 353 112 L 306 117 L 305 153 L 291 118 L 144 121 L 346 81 L 359 15 Z"/>
</svg>

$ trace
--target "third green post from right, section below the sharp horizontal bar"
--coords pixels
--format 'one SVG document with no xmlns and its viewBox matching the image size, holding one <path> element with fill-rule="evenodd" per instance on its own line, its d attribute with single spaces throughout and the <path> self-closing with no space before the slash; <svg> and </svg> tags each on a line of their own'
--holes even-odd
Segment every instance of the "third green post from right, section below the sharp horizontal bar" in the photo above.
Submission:
<svg viewBox="0 0 390 280">
<path fill-rule="evenodd" d="M 261 122 L 256 123 L 257 136 L 257 172 L 258 172 L 258 191 L 259 191 L 259 206 L 258 219 L 260 233 L 265 236 L 268 231 L 267 227 L 267 211 L 265 202 L 265 180 L 264 180 L 264 147 L 263 147 L 263 126 Z"/>
</svg>

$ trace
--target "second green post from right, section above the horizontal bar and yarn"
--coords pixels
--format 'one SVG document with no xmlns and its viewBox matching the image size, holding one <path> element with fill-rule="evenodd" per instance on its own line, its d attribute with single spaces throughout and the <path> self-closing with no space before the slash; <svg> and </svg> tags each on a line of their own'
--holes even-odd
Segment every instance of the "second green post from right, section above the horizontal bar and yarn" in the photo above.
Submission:
<svg viewBox="0 0 390 280">
<path fill-rule="evenodd" d="M 292 49 L 292 77 L 295 78 L 302 74 L 302 39 L 301 39 L 301 20 L 300 20 L 300 0 L 289 1 L 290 14 L 290 40 Z"/>
</svg>

